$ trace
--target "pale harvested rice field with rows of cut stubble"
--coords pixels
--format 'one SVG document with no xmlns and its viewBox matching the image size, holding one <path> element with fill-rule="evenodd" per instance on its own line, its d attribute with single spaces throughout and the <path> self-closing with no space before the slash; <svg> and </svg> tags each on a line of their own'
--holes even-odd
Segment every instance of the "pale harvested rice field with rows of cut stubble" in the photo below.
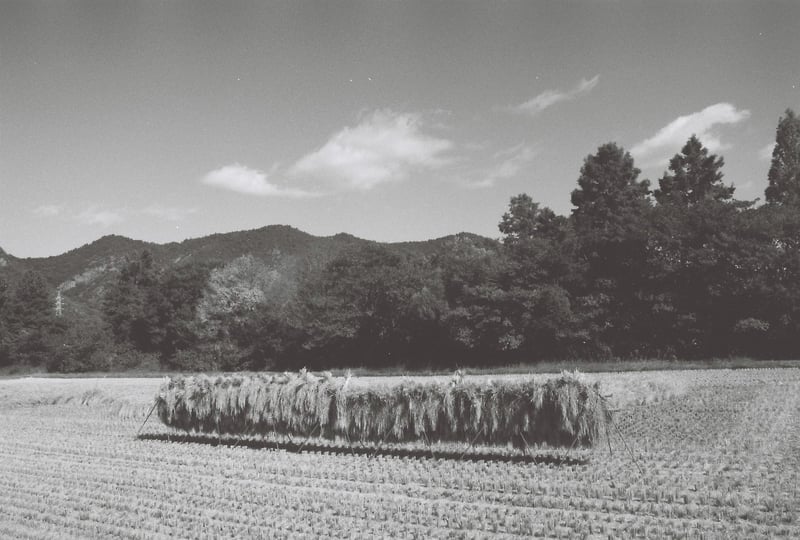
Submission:
<svg viewBox="0 0 800 540">
<path fill-rule="evenodd" d="M 0 380 L 0 537 L 800 537 L 799 369 L 585 377 L 610 429 L 525 460 L 187 439 L 157 413 L 137 438 L 162 379 Z"/>
</svg>

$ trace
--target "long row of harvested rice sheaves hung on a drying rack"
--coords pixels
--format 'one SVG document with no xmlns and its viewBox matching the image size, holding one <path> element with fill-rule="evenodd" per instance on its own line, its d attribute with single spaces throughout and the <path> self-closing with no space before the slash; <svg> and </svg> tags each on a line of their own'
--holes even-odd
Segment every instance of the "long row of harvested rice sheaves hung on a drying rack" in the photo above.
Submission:
<svg viewBox="0 0 800 540">
<path fill-rule="evenodd" d="M 158 415 L 204 433 L 554 447 L 593 446 L 611 420 L 599 385 L 578 373 L 499 383 L 348 381 L 305 371 L 172 377 L 157 395 Z"/>
</svg>

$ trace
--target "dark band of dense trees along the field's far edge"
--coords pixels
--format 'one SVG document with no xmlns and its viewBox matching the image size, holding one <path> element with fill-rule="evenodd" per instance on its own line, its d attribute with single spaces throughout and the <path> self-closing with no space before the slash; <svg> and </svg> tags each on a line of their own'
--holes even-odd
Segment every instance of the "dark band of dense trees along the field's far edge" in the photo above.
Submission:
<svg viewBox="0 0 800 540">
<path fill-rule="evenodd" d="M 606 143 L 570 215 L 512 197 L 497 240 L 350 242 L 326 256 L 172 264 L 144 249 L 92 316 L 0 273 L 0 367 L 57 372 L 436 369 L 542 360 L 800 356 L 800 119 L 779 120 L 764 200 L 691 137 L 656 181 Z M 0 252 L 2 253 L 2 252 Z"/>
</svg>

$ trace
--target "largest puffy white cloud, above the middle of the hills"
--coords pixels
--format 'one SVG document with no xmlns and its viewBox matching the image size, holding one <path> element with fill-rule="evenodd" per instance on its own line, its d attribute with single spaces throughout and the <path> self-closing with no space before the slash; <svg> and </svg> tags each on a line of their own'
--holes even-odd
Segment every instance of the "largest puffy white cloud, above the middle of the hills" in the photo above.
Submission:
<svg viewBox="0 0 800 540">
<path fill-rule="evenodd" d="M 375 111 L 300 158 L 288 174 L 338 189 L 368 190 L 402 180 L 414 170 L 435 169 L 448 163 L 443 154 L 453 143 L 426 134 L 422 128 L 418 114 Z"/>
</svg>

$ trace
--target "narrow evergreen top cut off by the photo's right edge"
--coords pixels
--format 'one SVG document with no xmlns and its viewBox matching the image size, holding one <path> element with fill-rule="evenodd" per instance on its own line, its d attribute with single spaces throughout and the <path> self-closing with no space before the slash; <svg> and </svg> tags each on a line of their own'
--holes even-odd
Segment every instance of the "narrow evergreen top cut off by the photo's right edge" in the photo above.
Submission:
<svg viewBox="0 0 800 540">
<path fill-rule="evenodd" d="M 792 109 L 778 120 L 769 185 L 765 191 L 768 203 L 800 204 L 800 118 Z"/>
</svg>

